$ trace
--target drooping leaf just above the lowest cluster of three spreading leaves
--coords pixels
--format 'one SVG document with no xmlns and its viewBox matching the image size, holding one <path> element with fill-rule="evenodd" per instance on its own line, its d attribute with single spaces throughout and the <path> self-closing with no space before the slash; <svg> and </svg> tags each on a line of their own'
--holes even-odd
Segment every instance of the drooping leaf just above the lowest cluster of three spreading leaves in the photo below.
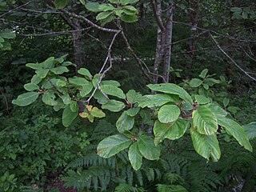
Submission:
<svg viewBox="0 0 256 192">
<path fill-rule="evenodd" d="M 125 130 L 131 130 L 134 126 L 134 117 L 129 116 L 124 111 L 116 122 L 119 133 L 125 132 Z"/>
</svg>

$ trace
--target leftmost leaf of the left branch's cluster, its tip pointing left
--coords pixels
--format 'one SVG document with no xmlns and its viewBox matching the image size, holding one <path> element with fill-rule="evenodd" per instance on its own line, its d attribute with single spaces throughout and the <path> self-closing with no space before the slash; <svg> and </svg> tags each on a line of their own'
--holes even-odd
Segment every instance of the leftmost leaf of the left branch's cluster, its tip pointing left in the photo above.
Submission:
<svg viewBox="0 0 256 192">
<path fill-rule="evenodd" d="M 18 98 L 14 99 L 12 103 L 18 106 L 28 106 L 35 100 L 37 100 L 39 93 L 38 92 L 28 92 L 25 94 L 18 95 Z"/>
</svg>

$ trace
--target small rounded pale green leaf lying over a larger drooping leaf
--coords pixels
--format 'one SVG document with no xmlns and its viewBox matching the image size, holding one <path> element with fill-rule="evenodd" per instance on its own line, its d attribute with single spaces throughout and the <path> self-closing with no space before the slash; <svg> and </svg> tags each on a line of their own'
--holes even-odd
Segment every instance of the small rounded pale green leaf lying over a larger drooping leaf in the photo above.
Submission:
<svg viewBox="0 0 256 192">
<path fill-rule="evenodd" d="M 158 119 L 160 122 L 174 122 L 178 119 L 181 114 L 181 110 L 179 110 L 178 106 L 174 105 L 166 105 L 162 106 L 158 111 Z"/>
</svg>

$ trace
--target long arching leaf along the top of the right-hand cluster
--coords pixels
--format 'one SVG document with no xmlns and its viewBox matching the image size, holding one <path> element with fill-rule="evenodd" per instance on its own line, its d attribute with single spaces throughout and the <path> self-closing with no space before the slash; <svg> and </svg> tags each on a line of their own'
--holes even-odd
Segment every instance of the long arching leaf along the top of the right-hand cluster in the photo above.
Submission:
<svg viewBox="0 0 256 192">
<path fill-rule="evenodd" d="M 173 83 L 150 84 L 147 85 L 147 87 L 149 87 L 150 90 L 155 90 L 166 94 L 178 94 L 180 98 L 193 104 L 193 99 L 191 98 L 190 94 L 188 94 L 182 87 Z"/>
</svg>

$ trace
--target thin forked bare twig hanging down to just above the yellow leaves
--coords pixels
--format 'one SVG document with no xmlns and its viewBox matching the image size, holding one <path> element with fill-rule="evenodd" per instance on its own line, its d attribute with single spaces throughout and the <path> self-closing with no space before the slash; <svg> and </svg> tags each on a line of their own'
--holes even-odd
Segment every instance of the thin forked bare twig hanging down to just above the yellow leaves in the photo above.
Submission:
<svg viewBox="0 0 256 192">
<path fill-rule="evenodd" d="M 108 52 L 107 52 L 106 59 L 105 59 L 103 65 L 102 65 L 101 70 L 98 72 L 98 74 L 102 74 L 102 75 L 101 75 L 101 77 L 98 79 L 97 86 L 94 88 L 94 91 L 93 91 L 93 93 L 90 95 L 90 98 L 88 98 L 88 99 L 85 101 L 86 103 L 89 103 L 89 102 L 90 102 L 90 99 L 94 97 L 94 94 L 95 94 L 96 90 L 100 90 L 99 86 L 100 86 L 100 84 L 101 84 L 101 82 L 102 82 L 102 79 L 104 78 L 106 72 L 109 71 L 109 70 L 112 68 L 111 49 L 112 49 L 112 46 L 113 46 L 113 44 L 114 44 L 114 40 L 115 40 L 115 38 L 118 36 L 119 33 L 120 33 L 120 31 L 118 31 L 116 34 L 114 34 L 114 37 L 112 38 L 112 41 L 110 42 L 110 46 L 109 46 L 109 48 L 108 48 Z M 110 62 L 110 66 L 109 66 L 106 70 L 104 70 L 107 61 Z M 104 71 L 103 71 L 103 70 L 104 70 Z M 102 72 L 102 71 L 103 71 L 103 72 Z M 102 92 L 102 90 L 100 90 L 100 91 Z M 105 93 L 102 92 L 102 94 L 103 94 L 107 99 L 109 99 L 109 98 L 106 96 Z"/>
</svg>

